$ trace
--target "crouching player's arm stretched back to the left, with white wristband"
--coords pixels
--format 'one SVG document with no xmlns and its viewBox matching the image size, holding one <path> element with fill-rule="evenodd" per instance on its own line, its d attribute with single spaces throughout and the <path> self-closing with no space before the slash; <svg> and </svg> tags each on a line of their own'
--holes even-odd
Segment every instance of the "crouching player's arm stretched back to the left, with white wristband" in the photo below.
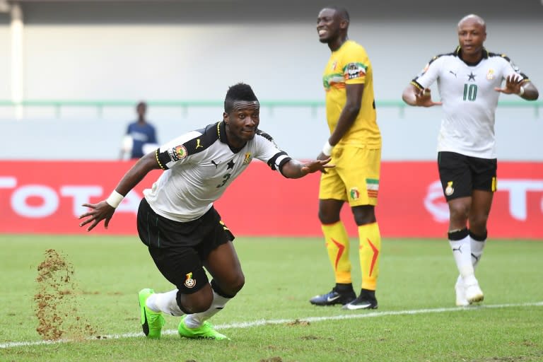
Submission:
<svg viewBox="0 0 543 362">
<path fill-rule="evenodd" d="M 156 161 L 155 153 L 151 152 L 140 158 L 138 162 L 124 174 L 110 197 L 98 202 L 98 204 L 83 204 L 83 206 L 88 207 L 90 210 L 79 216 L 79 220 L 83 220 L 79 223 L 79 226 L 83 227 L 90 223 L 91 225 L 87 227 L 87 231 L 91 231 L 98 223 L 100 223 L 100 221 L 104 220 L 104 227 L 107 229 L 113 213 L 115 213 L 115 209 L 119 206 L 123 197 L 138 185 L 151 170 L 156 170 L 158 168 L 160 168 L 160 165 L 158 165 L 158 162 Z"/>
</svg>

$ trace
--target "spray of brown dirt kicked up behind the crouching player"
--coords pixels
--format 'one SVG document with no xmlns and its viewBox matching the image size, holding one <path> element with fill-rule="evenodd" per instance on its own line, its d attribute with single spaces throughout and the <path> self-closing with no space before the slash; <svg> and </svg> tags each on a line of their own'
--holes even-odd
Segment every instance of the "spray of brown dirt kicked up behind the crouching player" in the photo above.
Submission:
<svg viewBox="0 0 543 362">
<path fill-rule="evenodd" d="M 78 293 L 72 279 L 74 267 L 54 249 L 45 250 L 37 267 L 37 292 L 34 296 L 36 331 L 42 339 L 84 339 L 95 334 L 78 313 Z"/>
</svg>

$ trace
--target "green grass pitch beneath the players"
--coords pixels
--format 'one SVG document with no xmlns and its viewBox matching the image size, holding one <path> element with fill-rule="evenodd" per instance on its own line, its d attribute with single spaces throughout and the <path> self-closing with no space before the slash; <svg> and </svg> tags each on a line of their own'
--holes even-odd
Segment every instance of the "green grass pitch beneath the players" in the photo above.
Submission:
<svg viewBox="0 0 543 362">
<path fill-rule="evenodd" d="M 235 240 L 245 287 L 211 322 L 230 341 L 187 340 L 165 316 L 162 339 L 139 325 L 137 292 L 168 291 L 137 237 L 0 235 L 0 361 L 543 361 L 543 243 L 489 240 L 481 306 L 455 307 L 446 240 L 383 239 L 378 310 L 308 302 L 333 286 L 322 238 Z M 357 240 L 354 285 L 360 286 Z M 45 342 L 33 297 L 54 249 L 73 266 L 71 294 L 95 332 Z"/>
</svg>

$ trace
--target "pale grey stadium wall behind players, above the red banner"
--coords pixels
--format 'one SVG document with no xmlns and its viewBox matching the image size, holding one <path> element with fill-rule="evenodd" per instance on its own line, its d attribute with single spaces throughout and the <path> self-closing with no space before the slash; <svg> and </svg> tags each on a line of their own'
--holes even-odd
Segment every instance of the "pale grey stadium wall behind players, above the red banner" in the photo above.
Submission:
<svg viewBox="0 0 543 362">
<path fill-rule="evenodd" d="M 238 81 L 261 100 L 322 100 L 329 49 L 315 19 L 328 1 L 23 1 L 24 93 L 28 100 L 221 100 Z M 434 54 L 457 45 L 466 13 L 488 23 L 486 46 L 506 51 L 543 88 L 540 1 L 346 0 L 350 37 L 372 59 L 376 100 L 400 100 L 404 86 Z M 386 9 L 384 8 L 386 7 Z M 424 11 L 422 10 L 424 9 Z M 0 100 L 11 98 L 9 16 L 0 13 Z M 518 100 L 501 96 L 502 100 Z M 524 102 L 528 104 L 527 102 Z M 160 141 L 216 121 L 214 107 L 150 107 Z M 0 159 L 113 160 L 133 107 L 103 110 L 0 107 Z M 435 158 L 440 110 L 378 109 L 384 160 Z M 539 108 L 501 107 L 501 160 L 543 160 Z M 262 129 L 292 156 L 312 158 L 327 134 L 322 109 L 262 113 Z M 303 141 L 300 141 L 303 135 Z M 81 146 L 85 140 L 86 145 Z"/>
</svg>

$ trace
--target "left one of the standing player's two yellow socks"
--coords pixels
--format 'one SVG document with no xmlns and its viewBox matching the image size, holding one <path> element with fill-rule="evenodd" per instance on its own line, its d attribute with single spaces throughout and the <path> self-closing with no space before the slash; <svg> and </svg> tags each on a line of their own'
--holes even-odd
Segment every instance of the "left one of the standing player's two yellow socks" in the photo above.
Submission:
<svg viewBox="0 0 543 362">
<path fill-rule="evenodd" d="M 349 236 L 341 221 L 329 225 L 322 225 L 325 234 L 326 249 L 332 269 L 336 276 L 336 283 L 351 283 L 351 261 L 349 260 Z"/>
</svg>

